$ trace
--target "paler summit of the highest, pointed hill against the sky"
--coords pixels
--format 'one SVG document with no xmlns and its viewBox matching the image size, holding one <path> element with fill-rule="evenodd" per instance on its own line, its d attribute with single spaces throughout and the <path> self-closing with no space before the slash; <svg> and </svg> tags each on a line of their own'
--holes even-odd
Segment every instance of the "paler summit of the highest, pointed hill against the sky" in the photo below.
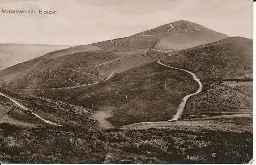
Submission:
<svg viewBox="0 0 256 165">
<path fill-rule="evenodd" d="M 182 50 L 211 43 L 228 36 L 189 21 L 176 21 L 133 36 L 96 43 L 103 49 L 133 50 L 152 47 L 156 49 Z M 114 44 L 114 43 L 118 43 Z"/>
</svg>

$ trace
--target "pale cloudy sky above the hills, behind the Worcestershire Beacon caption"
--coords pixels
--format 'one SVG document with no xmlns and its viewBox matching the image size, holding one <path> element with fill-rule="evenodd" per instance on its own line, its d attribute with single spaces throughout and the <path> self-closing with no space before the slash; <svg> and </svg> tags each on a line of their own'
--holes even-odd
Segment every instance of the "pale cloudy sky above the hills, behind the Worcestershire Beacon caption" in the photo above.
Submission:
<svg viewBox="0 0 256 165">
<path fill-rule="evenodd" d="M 0 43 L 84 45 L 126 37 L 177 20 L 252 38 L 252 0 L 0 0 L 3 9 L 57 15 L 3 14 Z"/>
</svg>

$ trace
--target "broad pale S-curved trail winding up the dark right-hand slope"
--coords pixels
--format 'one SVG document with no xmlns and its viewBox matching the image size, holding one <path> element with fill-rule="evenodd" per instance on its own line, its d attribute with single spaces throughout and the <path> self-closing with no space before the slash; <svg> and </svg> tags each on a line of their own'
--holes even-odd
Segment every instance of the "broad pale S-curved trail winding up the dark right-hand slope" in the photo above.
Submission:
<svg viewBox="0 0 256 165">
<path fill-rule="evenodd" d="M 201 83 L 201 81 L 197 78 L 197 76 L 196 76 L 194 73 L 189 72 L 189 71 L 187 71 L 187 70 L 185 70 L 185 69 L 180 69 L 180 68 L 175 68 L 175 67 L 171 67 L 171 66 L 165 65 L 165 64 L 161 63 L 160 61 L 161 61 L 161 60 L 158 60 L 158 61 L 157 61 L 158 64 L 160 64 L 160 65 L 163 65 L 163 66 L 166 66 L 166 67 L 169 67 L 169 68 L 172 68 L 172 69 L 182 70 L 182 71 L 184 71 L 184 72 L 187 72 L 187 73 L 191 74 L 193 80 L 197 81 L 197 83 L 199 84 L 198 90 L 197 90 L 195 93 L 186 95 L 186 96 L 182 99 L 180 105 L 178 106 L 177 113 L 175 114 L 175 116 L 174 116 L 172 119 L 168 120 L 168 121 L 175 121 L 175 120 L 178 120 L 178 119 L 180 118 L 180 116 L 181 116 L 181 114 L 182 114 L 182 112 L 183 112 L 183 110 L 184 110 L 184 108 L 185 108 L 187 99 L 188 99 L 189 97 L 191 97 L 191 96 L 193 96 L 193 95 L 198 94 L 199 92 L 201 92 L 202 89 L 203 89 L 203 84 Z"/>
</svg>

